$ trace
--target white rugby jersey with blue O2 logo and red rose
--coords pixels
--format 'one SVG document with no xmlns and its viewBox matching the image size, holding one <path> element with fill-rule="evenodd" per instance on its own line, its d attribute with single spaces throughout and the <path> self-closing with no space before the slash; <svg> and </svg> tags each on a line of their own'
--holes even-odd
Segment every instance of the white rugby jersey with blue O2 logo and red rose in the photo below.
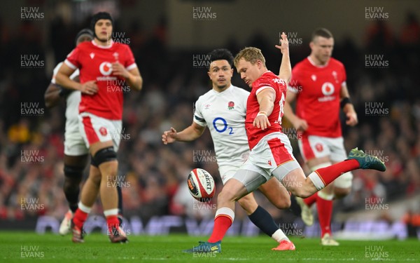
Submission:
<svg viewBox="0 0 420 263">
<path fill-rule="evenodd" d="M 248 159 L 245 130 L 248 95 L 248 91 L 231 85 L 221 93 L 211 89 L 195 102 L 194 121 L 209 128 L 219 167 L 240 166 Z"/>
</svg>

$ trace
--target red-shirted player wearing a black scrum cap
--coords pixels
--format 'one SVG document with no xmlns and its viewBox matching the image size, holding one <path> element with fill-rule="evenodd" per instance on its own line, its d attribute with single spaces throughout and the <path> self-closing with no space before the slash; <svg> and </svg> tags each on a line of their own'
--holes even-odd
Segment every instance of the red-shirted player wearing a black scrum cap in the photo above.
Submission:
<svg viewBox="0 0 420 263">
<path fill-rule="evenodd" d="M 67 56 L 57 73 L 59 85 L 80 90 L 79 127 L 92 157 L 90 175 L 83 186 L 72 222 L 73 242 L 83 242 L 83 224 L 100 193 L 109 238 L 127 241 L 118 222 L 117 154 L 123 115 L 123 85 L 141 90 L 143 79 L 129 46 L 111 39 L 113 19 L 99 12 L 91 20 L 94 40 L 81 43 Z M 69 76 L 80 69 L 80 83 Z M 96 167 L 97 168 L 96 168 Z"/>
</svg>

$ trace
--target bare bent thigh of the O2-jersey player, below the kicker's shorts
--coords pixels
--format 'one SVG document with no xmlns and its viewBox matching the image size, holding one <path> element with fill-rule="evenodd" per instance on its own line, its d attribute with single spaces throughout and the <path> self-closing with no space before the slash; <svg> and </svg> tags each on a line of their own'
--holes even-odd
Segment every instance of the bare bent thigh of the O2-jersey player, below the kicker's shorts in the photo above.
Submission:
<svg viewBox="0 0 420 263">
<path fill-rule="evenodd" d="M 276 208 L 286 209 L 290 207 L 290 194 L 276 178 L 272 177 L 258 189 Z"/>
</svg>

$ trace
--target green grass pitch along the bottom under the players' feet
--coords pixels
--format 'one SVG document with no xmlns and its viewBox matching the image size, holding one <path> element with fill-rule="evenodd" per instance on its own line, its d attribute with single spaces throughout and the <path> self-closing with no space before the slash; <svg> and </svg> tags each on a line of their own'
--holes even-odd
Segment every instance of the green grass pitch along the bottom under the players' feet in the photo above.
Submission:
<svg viewBox="0 0 420 263">
<path fill-rule="evenodd" d="M 85 243 L 70 236 L 0 232 L 0 262 L 420 262 L 420 241 L 340 241 L 322 247 L 317 238 L 291 238 L 295 251 L 272 251 L 267 236 L 226 237 L 220 254 L 185 254 L 205 237 L 186 235 L 129 236 L 128 244 L 111 244 L 102 234 Z"/>
</svg>

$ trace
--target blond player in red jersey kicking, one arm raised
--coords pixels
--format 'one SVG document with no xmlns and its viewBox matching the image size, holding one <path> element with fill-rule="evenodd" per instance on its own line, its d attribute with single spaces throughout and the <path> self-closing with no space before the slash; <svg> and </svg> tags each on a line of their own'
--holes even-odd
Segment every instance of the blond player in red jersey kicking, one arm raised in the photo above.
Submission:
<svg viewBox="0 0 420 263">
<path fill-rule="evenodd" d="M 251 153 L 218 194 L 214 229 L 209 239 L 183 252 L 221 252 L 222 239 L 235 219 L 235 202 L 272 177 L 276 177 L 295 196 L 306 198 L 349 170 L 386 170 L 379 159 L 356 148 L 351 150 L 345 161 L 320 168 L 305 177 L 293 156 L 287 135 L 281 131 L 286 83 L 291 76 L 288 40 L 284 32 L 281 34 L 281 46 L 276 47 L 283 54 L 279 76 L 267 70 L 265 58 L 258 48 L 244 48 L 235 57 L 237 72 L 251 87 L 245 119 Z"/>
</svg>

